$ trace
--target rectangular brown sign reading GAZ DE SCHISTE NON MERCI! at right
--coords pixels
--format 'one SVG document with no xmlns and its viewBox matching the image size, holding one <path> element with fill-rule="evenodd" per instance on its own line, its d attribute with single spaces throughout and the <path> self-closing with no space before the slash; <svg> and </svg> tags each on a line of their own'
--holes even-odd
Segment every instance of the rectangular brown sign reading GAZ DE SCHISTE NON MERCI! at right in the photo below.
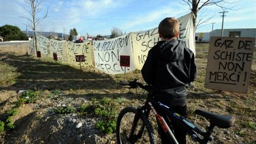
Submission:
<svg viewBox="0 0 256 144">
<path fill-rule="evenodd" d="M 255 38 L 211 37 L 205 87 L 246 93 Z"/>
</svg>

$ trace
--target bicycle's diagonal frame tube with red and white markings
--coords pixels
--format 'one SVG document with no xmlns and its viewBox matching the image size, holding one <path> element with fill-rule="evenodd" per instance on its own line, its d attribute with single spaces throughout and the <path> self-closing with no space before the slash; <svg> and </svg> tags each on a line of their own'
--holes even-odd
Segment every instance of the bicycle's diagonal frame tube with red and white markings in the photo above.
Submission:
<svg viewBox="0 0 256 144">
<path fill-rule="evenodd" d="M 178 144 L 177 139 L 175 138 L 171 129 L 169 129 L 169 126 L 168 126 L 167 122 L 165 121 L 165 119 L 162 116 L 160 116 L 158 113 L 156 113 L 156 110 L 153 107 L 153 105 L 151 104 L 151 102 L 148 102 L 148 104 L 151 107 L 153 113 L 155 114 L 155 117 L 156 117 L 159 125 L 162 127 L 162 130 L 164 130 L 164 132 L 168 135 L 168 139 L 170 140 L 170 142 Z"/>
</svg>

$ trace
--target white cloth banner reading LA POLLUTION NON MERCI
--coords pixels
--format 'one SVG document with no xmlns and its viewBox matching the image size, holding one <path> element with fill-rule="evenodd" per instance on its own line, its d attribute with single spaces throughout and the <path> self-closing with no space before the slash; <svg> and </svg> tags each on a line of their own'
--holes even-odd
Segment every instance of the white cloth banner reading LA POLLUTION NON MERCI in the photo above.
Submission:
<svg viewBox="0 0 256 144">
<path fill-rule="evenodd" d="M 111 40 L 93 41 L 95 68 L 104 73 L 119 74 L 134 71 L 130 34 Z M 120 55 L 130 56 L 130 67 L 120 66 Z"/>
</svg>

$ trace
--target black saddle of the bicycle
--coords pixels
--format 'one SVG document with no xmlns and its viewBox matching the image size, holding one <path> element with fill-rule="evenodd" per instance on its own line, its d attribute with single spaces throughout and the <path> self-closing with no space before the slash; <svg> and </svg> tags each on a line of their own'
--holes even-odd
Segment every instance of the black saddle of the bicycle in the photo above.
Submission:
<svg viewBox="0 0 256 144">
<path fill-rule="evenodd" d="M 235 117 L 228 116 L 228 115 L 210 113 L 209 111 L 203 111 L 203 110 L 196 110 L 194 113 L 205 117 L 210 122 L 211 125 L 224 128 L 224 129 L 231 127 L 233 123 L 235 123 Z"/>
</svg>

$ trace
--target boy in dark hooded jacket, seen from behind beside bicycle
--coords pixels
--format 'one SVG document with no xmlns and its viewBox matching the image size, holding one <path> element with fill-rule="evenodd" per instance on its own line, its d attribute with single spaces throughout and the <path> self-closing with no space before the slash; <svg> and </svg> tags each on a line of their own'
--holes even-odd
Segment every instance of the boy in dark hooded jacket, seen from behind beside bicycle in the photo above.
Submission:
<svg viewBox="0 0 256 144">
<path fill-rule="evenodd" d="M 180 34 L 177 19 L 165 18 L 159 23 L 161 41 L 149 50 L 142 68 L 145 82 L 152 85 L 155 99 L 167 105 L 175 113 L 187 116 L 187 87 L 197 76 L 194 53 L 185 47 L 184 41 L 177 40 Z M 162 114 L 166 117 L 165 114 Z M 172 124 L 178 143 L 186 143 L 184 130 Z M 162 143 L 169 143 L 164 132 L 160 132 Z"/>
</svg>

